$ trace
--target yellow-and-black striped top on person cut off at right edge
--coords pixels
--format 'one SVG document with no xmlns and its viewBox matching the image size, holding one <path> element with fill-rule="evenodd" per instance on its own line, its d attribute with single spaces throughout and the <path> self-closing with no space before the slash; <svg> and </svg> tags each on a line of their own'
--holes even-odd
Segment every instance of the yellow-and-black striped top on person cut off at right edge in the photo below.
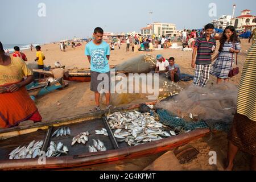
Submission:
<svg viewBox="0 0 256 182">
<path fill-rule="evenodd" d="M 256 43 L 248 51 L 237 97 L 237 113 L 256 122 Z"/>
</svg>

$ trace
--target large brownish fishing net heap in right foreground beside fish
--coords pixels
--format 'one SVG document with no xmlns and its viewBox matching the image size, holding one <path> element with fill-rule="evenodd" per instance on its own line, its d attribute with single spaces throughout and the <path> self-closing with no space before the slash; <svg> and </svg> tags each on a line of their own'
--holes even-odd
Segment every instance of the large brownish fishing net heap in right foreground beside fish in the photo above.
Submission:
<svg viewBox="0 0 256 182">
<path fill-rule="evenodd" d="M 189 86 L 171 100 L 160 102 L 157 107 L 180 118 L 200 122 L 203 119 L 211 128 L 228 130 L 236 112 L 237 91 L 237 86 L 232 84 L 214 85 L 210 88 Z M 199 125 L 203 126 L 204 123 Z M 195 123 L 191 125 L 186 127 L 194 127 Z"/>
</svg>

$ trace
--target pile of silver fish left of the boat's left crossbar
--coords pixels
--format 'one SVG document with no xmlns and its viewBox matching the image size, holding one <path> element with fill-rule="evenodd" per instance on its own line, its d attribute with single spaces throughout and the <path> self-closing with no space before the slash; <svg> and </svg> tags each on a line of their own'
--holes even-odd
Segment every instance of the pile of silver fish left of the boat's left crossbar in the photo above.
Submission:
<svg viewBox="0 0 256 182">
<path fill-rule="evenodd" d="M 43 143 L 43 140 L 40 140 L 38 142 L 35 142 L 35 140 L 33 140 L 28 144 L 28 146 L 19 146 L 10 152 L 9 159 L 36 158 L 36 156 L 38 156 L 41 151 L 40 148 L 42 148 Z"/>
</svg>

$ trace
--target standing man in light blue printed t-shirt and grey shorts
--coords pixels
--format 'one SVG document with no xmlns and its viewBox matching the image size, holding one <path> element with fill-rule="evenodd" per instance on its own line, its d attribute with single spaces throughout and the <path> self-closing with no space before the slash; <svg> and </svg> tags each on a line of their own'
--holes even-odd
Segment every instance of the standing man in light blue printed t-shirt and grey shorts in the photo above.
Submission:
<svg viewBox="0 0 256 182">
<path fill-rule="evenodd" d="M 106 109 L 112 109 L 110 105 L 110 48 L 103 38 L 104 31 L 97 27 L 94 29 L 94 40 L 86 44 L 85 55 L 90 63 L 90 90 L 94 92 L 96 106 L 91 111 L 100 110 L 100 91 L 104 89 L 106 96 Z M 101 78 L 100 80 L 98 80 Z M 102 78 L 104 80 L 102 81 Z"/>
</svg>

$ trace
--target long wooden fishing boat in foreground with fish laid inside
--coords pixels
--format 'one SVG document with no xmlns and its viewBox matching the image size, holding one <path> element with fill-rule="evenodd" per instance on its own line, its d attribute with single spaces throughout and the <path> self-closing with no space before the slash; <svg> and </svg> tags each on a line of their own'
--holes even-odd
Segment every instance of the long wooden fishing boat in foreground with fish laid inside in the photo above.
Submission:
<svg viewBox="0 0 256 182">
<path fill-rule="evenodd" d="M 155 104 L 155 102 L 147 103 Z M 135 110 L 141 105 L 118 107 L 115 111 Z M 34 123 L 34 125 L 25 125 L 0 130 L 0 170 L 16 169 L 71 169 L 88 168 L 94 164 L 105 164 L 117 160 L 127 160 L 139 158 L 170 150 L 181 146 L 191 140 L 198 139 L 209 133 L 209 129 L 197 129 L 188 133 L 160 139 L 146 144 L 129 147 L 125 142 L 118 143 L 114 138 L 112 130 L 104 114 L 109 110 L 101 110 L 97 113 L 87 113 L 76 115 L 69 118 L 61 118 L 57 121 Z M 59 127 L 68 126 L 71 129 L 71 136 L 51 137 L 52 133 Z M 108 130 L 109 136 L 96 135 L 95 130 L 104 127 Z M 83 144 L 71 146 L 72 138 L 81 132 L 89 131 L 89 141 Z M 92 145 L 92 139 L 100 139 L 105 143 L 107 151 L 89 152 L 88 146 Z M 34 159 L 9 159 L 9 154 L 18 146 L 25 146 L 32 140 L 43 140 L 41 150 L 46 151 L 50 141 L 62 142 L 68 146 L 67 155 L 59 157 L 46 158 L 45 163 L 39 163 L 40 158 Z"/>
</svg>

